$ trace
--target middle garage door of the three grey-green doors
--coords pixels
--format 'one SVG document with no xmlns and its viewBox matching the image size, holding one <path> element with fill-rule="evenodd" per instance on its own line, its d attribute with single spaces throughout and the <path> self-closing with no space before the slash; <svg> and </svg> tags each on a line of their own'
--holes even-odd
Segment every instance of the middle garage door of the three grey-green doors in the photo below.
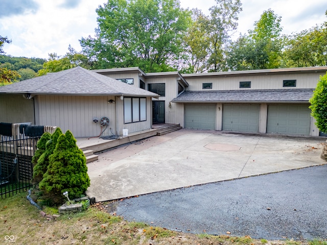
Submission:
<svg viewBox="0 0 327 245">
<path fill-rule="evenodd" d="M 260 105 L 223 105 L 223 130 L 259 132 Z"/>
</svg>

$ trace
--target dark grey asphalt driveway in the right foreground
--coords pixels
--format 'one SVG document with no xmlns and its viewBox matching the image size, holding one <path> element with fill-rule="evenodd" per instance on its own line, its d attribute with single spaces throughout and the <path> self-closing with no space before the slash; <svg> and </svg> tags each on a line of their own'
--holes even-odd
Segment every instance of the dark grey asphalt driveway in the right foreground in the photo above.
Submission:
<svg viewBox="0 0 327 245">
<path fill-rule="evenodd" d="M 107 210 L 196 234 L 313 240 L 327 239 L 326 195 L 327 165 L 321 165 L 146 194 Z"/>
</svg>

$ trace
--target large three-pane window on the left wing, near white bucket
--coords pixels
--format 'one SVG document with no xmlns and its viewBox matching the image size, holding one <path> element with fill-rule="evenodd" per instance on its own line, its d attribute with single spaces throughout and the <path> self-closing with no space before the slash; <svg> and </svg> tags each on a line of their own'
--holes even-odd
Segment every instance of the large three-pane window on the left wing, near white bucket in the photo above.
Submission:
<svg viewBox="0 0 327 245">
<path fill-rule="evenodd" d="M 147 120 L 147 99 L 124 97 L 124 124 Z"/>
</svg>

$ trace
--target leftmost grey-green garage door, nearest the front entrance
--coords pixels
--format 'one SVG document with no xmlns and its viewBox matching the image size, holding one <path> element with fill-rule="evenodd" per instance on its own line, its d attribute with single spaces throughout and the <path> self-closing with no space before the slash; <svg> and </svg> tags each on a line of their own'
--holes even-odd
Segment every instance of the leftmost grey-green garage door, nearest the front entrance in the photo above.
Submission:
<svg viewBox="0 0 327 245">
<path fill-rule="evenodd" d="M 216 105 L 185 105 L 185 128 L 216 130 Z"/>
</svg>

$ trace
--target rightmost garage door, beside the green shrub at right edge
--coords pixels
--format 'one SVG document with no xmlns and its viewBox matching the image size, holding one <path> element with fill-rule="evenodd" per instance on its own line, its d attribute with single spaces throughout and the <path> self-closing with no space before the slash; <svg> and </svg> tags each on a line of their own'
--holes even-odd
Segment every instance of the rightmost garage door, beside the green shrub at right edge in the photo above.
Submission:
<svg viewBox="0 0 327 245">
<path fill-rule="evenodd" d="M 267 133 L 310 134 L 308 105 L 268 105 Z"/>
</svg>

